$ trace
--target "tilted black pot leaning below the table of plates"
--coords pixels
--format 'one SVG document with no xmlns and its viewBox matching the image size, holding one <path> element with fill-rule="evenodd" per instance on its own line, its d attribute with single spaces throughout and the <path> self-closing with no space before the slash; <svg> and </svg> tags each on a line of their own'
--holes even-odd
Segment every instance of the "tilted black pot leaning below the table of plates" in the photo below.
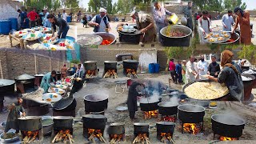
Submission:
<svg viewBox="0 0 256 144">
<path fill-rule="evenodd" d="M 77 106 L 77 101 L 75 98 L 61 99 L 54 103 L 54 111 L 68 111 L 74 110 Z"/>
</svg>

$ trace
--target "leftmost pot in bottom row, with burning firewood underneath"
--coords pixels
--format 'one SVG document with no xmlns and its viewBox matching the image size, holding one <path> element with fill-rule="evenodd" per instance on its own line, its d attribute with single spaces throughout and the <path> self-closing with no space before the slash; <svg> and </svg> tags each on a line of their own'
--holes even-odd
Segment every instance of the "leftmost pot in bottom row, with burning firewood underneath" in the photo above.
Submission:
<svg viewBox="0 0 256 144">
<path fill-rule="evenodd" d="M 42 119 L 40 117 L 18 118 L 18 126 L 24 143 L 42 142 Z"/>
</svg>

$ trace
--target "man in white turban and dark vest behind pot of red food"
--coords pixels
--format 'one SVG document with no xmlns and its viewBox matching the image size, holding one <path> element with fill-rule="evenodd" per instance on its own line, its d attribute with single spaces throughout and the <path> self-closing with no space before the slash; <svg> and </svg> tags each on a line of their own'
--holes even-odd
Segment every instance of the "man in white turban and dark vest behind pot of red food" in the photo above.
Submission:
<svg viewBox="0 0 256 144">
<path fill-rule="evenodd" d="M 101 8 L 99 14 L 91 19 L 89 26 L 94 26 L 94 33 L 108 32 L 110 29 L 110 22 L 108 21 L 108 18 L 106 18 L 106 10 Z"/>
</svg>

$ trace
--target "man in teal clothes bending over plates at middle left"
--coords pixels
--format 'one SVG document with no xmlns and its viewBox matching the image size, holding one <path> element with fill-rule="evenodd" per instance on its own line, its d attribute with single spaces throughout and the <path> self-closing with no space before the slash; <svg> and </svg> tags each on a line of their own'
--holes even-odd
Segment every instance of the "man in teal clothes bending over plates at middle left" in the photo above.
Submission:
<svg viewBox="0 0 256 144">
<path fill-rule="evenodd" d="M 40 87 L 42 87 L 42 89 L 45 90 L 45 93 L 47 93 L 48 89 L 50 88 L 50 82 L 55 82 L 54 81 L 55 76 L 56 76 L 56 71 L 53 70 L 52 72 L 49 72 L 42 77 L 42 82 Z"/>
</svg>

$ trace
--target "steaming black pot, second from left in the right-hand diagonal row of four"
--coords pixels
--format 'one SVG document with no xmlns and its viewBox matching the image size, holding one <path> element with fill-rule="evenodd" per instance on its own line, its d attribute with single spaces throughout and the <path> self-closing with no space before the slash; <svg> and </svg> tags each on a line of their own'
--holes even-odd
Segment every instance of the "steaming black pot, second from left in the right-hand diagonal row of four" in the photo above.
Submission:
<svg viewBox="0 0 256 144">
<path fill-rule="evenodd" d="M 158 103 L 158 113 L 162 115 L 174 115 L 178 113 L 178 105 L 173 102 Z"/>
</svg>

